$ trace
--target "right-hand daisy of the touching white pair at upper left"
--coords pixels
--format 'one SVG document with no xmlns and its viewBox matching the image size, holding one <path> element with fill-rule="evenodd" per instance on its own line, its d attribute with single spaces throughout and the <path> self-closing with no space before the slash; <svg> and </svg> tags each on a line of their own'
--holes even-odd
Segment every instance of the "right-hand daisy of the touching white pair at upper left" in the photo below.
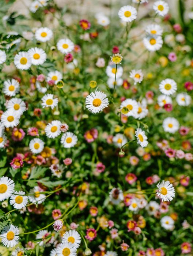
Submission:
<svg viewBox="0 0 193 256">
<path fill-rule="evenodd" d="M 43 49 L 35 47 L 27 52 L 33 65 L 42 65 L 46 61 L 46 53 Z"/>
</svg>

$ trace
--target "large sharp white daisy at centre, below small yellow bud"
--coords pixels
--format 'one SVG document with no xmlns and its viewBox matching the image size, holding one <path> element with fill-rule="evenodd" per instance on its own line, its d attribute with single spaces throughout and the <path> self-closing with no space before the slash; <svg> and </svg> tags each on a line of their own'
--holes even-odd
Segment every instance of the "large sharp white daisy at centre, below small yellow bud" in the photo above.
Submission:
<svg viewBox="0 0 193 256">
<path fill-rule="evenodd" d="M 105 93 L 95 91 L 87 96 L 85 105 L 92 113 L 99 113 L 109 105 L 109 100 Z"/>
</svg>

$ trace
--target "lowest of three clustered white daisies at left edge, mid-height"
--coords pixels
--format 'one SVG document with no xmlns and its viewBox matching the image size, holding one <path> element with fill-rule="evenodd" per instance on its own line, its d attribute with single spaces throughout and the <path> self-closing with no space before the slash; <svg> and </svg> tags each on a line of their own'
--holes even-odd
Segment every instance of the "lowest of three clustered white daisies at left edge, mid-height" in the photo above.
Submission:
<svg viewBox="0 0 193 256">
<path fill-rule="evenodd" d="M 16 127 L 19 124 L 20 116 L 16 115 L 12 110 L 5 111 L 1 116 L 1 123 L 6 127 Z"/>
</svg>

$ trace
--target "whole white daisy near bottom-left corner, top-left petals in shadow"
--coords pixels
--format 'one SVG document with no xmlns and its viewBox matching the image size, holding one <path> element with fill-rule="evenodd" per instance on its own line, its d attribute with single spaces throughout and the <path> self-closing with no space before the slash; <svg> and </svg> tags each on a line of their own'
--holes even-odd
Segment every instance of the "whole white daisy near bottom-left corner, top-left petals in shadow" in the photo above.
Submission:
<svg viewBox="0 0 193 256">
<path fill-rule="evenodd" d="M 0 237 L 4 246 L 14 247 L 16 244 L 18 244 L 19 229 L 17 226 L 12 224 L 5 226 L 2 233 L 0 234 Z"/>
</svg>

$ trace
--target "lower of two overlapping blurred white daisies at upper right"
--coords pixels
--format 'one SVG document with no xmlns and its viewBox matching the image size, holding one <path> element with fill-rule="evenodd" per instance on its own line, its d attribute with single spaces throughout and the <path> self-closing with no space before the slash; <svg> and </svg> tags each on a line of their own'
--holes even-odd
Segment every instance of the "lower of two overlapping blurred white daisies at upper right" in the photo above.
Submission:
<svg viewBox="0 0 193 256">
<path fill-rule="evenodd" d="M 147 48 L 150 52 L 155 52 L 162 48 L 163 40 L 162 37 L 158 36 L 150 36 L 143 38 L 143 43 L 145 45 L 145 48 Z"/>
</svg>

